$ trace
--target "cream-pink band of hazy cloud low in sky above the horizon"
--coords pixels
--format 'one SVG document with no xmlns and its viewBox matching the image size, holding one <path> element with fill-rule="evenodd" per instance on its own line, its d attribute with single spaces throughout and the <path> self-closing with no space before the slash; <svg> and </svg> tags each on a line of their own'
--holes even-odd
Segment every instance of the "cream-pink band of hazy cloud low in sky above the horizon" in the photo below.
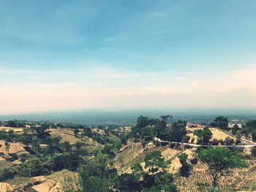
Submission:
<svg viewBox="0 0 256 192">
<path fill-rule="evenodd" d="M 222 76 L 216 74 L 214 81 L 197 75 L 197 81 L 193 81 L 192 77 L 177 80 L 176 83 L 172 83 L 175 78 L 159 79 L 154 85 L 152 81 L 138 83 L 135 77 L 146 74 L 130 72 L 115 77 L 115 72 L 111 70 L 104 70 L 102 74 L 106 72 L 110 75 L 102 76 L 96 84 L 90 81 L 1 83 L 0 113 L 101 107 L 256 107 L 255 69 L 227 72 Z M 1 70 L 0 73 L 15 75 L 33 72 Z M 113 77 L 113 81 L 106 82 L 105 78 L 110 77 Z M 129 78 L 129 86 L 116 84 L 120 78 Z"/>
</svg>

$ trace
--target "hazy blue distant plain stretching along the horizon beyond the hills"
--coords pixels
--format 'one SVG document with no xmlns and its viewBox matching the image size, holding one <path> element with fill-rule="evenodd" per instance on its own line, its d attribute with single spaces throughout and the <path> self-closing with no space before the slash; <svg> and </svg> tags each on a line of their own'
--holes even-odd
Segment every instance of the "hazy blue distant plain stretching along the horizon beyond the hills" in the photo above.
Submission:
<svg viewBox="0 0 256 192">
<path fill-rule="evenodd" d="M 32 120 L 53 123 L 81 123 L 86 125 L 135 124 L 140 115 L 149 118 L 160 118 L 161 115 L 172 115 L 173 121 L 187 120 L 190 123 L 210 123 L 219 115 L 229 120 L 252 120 L 256 118 L 255 110 L 80 110 L 65 112 L 34 112 L 23 114 L 0 115 L 0 120 Z"/>
</svg>

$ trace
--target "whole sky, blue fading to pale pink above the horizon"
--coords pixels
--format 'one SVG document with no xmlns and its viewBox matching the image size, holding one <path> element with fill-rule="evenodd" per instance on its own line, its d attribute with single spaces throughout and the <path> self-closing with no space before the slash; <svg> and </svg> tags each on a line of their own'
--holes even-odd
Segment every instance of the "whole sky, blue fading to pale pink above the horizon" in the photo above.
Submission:
<svg viewBox="0 0 256 192">
<path fill-rule="evenodd" d="M 255 7 L 0 0 L 0 114 L 255 109 Z"/>
</svg>

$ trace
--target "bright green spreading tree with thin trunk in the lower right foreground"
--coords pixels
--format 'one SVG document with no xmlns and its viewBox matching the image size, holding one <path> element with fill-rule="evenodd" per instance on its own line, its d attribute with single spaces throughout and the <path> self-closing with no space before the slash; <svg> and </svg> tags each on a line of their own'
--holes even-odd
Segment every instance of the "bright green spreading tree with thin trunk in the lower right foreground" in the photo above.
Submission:
<svg viewBox="0 0 256 192">
<path fill-rule="evenodd" d="M 208 165 L 208 172 L 213 177 L 213 186 L 217 187 L 217 180 L 220 175 L 232 171 L 235 168 L 244 168 L 248 164 L 237 153 L 226 147 L 212 147 L 199 149 L 196 157 Z"/>
</svg>

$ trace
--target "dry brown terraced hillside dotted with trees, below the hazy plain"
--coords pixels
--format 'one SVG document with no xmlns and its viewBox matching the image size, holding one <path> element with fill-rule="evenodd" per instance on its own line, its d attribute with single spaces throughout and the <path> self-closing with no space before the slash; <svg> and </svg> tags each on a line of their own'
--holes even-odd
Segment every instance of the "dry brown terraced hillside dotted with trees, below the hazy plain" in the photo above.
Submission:
<svg viewBox="0 0 256 192">
<path fill-rule="evenodd" d="M 157 142 L 155 135 L 162 139 L 169 137 L 176 144 Z M 161 191 L 162 185 L 157 184 L 157 180 L 162 180 L 165 188 L 174 191 L 209 190 L 213 178 L 207 164 L 196 158 L 200 147 L 184 143 L 207 142 L 216 148 L 217 145 L 235 146 L 236 140 L 233 132 L 218 127 L 208 128 L 183 120 L 167 123 L 142 116 L 137 126 L 125 130 L 123 126 L 90 128 L 44 122 L 29 122 L 26 128 L 3 126 L 0 132 L 0 189 L 3 192 L 76 192 L 94 186 L 97 191 L 134 191 L 135 188 L 137 191 L 151 188 Z M 238 145 L 241 144 L 255 142 L 243 135 Z M 249 166 L 230 169 L 228 174 L 220 176 L 219 190 L 255 190 L 254 150 L 230 147 L 228 151 L 241 155 Z M 181 173 L 184 168 L 182 155 L 189 167 L 187 176 Z M 94 185 L 97 180 L 102 185 Z M 127 186 L 127 180 L 132 184 Z"/>
</svg>

